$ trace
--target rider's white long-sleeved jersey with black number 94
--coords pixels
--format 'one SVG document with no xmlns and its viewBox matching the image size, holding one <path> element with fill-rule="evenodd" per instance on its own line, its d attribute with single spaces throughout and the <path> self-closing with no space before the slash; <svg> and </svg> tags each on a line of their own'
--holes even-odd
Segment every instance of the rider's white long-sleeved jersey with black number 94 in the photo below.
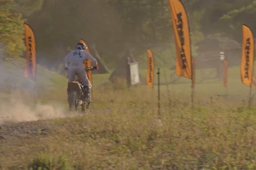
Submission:
<svg viewBox="0 0 256 170">
<path fill-rule="evenodd" d="M 69 62 L 69 67 L 84 67 L 85 59 L 91 60 L 91 62 L 95 63 L 96 66 L 98 65 L 97 60 L 95 60 L 90 53 L 84 50 L 74 50 L 65 57 L 65 59 L 63 60 L 63 66 L 67 67 L 67 62 Z"/>
</svg>

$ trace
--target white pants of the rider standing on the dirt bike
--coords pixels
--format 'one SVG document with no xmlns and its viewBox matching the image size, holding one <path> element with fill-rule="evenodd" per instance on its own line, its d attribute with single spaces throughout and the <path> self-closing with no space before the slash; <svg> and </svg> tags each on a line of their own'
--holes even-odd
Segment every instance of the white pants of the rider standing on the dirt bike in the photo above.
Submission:
<svg viewBox="0 0 256 170">
<path fill-rule="evenodd" d="M 88 80 L 88 77 L 86 75 L 86 71 L 84 70 L 84 67 L 81 67 L 81 66 L 70 66 L 69 73 L 68 73 L 69 83 L 72 82 L 72 81 L 75 81 L 76 75 L 83 82 L 84 86 L 88 86 L 89 85 L 89 80 Z"/>
</svg>

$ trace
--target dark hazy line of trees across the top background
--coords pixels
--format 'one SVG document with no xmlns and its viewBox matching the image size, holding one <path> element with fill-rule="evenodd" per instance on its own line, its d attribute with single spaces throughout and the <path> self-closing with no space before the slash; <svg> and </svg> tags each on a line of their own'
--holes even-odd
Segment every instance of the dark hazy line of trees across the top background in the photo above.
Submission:
<svg viewBox="0 0 256 170">
<path fill-rule="evenodd" d="M 254 0 L 182 2 L 192 44 L 205 36 L 241 41 L 243 23 L 256 28 Z M 39 64 L 49 68 L 56 67 L 80 38 L 96 43 L 107 65 L 117 64 L 128 47 L 139 56 L 146 48 L 166 49 L 174 43 L 169 0 L 0 0 L 1 58 L 24 54 L 23 22 L 34 29 Z M 160 60 L 168 63 L 169 57 L 174 55 Z"/>
</svg>

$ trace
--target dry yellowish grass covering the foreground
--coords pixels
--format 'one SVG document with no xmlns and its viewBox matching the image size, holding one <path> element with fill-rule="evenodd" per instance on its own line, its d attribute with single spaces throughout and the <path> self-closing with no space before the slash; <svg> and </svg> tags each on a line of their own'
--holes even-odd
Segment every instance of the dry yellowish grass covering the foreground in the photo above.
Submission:
<svg viewBox="0 0 256 170">
<path fill-rule="evenodd" d="M 58 96 L 39 95 L 49 101 Z M 66 93 L 59 95 L 66 102 Z M 256 168 L 256 110 L 220 98 L 201 99 L 192 110 L 189 95 L 172 98 L 169 109 L 167 98 L 163 92 L 158 115 L 156 92 L 128 90 L 120 81 L 94 89 L 89 114 L 6 123 L 0 130 L 1 168 Z"/>
</svg>

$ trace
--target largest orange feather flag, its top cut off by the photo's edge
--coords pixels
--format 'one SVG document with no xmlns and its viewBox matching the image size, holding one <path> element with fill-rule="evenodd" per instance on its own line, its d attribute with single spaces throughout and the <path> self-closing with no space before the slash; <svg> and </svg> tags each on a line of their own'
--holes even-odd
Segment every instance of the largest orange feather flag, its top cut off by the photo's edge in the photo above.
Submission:
<svg viewBox="0 0 256 170">
<path fill-rule="evenodd" d="M 180 0 L 169 0 L 176 44 L 176 75 L 192 79 L 191 45 L 187 14 Z"/>
</svg>

